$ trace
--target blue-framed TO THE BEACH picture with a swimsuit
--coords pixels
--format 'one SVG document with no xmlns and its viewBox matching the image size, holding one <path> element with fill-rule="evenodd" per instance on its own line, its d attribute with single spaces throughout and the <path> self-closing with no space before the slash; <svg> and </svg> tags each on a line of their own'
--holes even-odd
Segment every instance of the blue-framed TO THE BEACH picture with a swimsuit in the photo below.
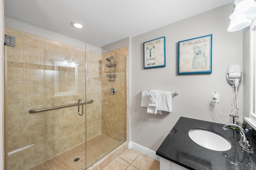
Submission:
<svg viewBox="0 0 256 170">
<path fill-rule="evenodd" d="M 178 42 L 178 74 L 212 73 L 212 34 Z"/>
</svg>

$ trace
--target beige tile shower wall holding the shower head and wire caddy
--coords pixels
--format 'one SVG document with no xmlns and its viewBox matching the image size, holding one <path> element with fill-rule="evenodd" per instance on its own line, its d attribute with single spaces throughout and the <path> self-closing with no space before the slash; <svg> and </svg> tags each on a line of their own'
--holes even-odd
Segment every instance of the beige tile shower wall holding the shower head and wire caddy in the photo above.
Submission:
<svg viewBox="0 0 256 170">
<path fill-rule="evenodd" d="M 118 53 L 114 53 L 118 52 Z M 118 141 L 126 140 L 126 58 L 128 47 L 102 54 L 102 134 Z M 116 67 L 106 67 L 107 57 L 114 56 Z M 115 81 L 108 81 L 106 74 L 115 69 Z M 116 89 L 115 95 L 110 95 L 110 89 Z"/>
</svg>

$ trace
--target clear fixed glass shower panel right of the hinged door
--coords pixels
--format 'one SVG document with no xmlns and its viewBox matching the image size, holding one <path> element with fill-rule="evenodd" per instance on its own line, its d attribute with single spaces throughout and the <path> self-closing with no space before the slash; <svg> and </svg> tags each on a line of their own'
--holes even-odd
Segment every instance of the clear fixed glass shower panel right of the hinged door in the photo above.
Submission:
<svg viewBox="0 0 256 170">
<path fill-rule="evenodd" d="M 126 56 L 86 44 L 86 59 L 88 168 L 126 141 Z"/>
</svg>

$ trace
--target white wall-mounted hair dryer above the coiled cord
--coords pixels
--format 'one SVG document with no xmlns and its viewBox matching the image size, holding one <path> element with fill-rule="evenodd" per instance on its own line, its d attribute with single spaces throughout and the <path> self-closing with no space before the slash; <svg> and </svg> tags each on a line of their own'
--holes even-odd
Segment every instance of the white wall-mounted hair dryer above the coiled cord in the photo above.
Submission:
<svg viewBox="0 0 256 170">
<path fill-rule="evenodd" d="M 236 94 L 237 94 L 239 81 L 240 81 L 240 78 L 242 77 L 242 69 L 240 65 L 229 65 L 226 72 L 226 76 L 227 76 L 228 82 L 234 85 L 236 89 Z"/>
</svg>

